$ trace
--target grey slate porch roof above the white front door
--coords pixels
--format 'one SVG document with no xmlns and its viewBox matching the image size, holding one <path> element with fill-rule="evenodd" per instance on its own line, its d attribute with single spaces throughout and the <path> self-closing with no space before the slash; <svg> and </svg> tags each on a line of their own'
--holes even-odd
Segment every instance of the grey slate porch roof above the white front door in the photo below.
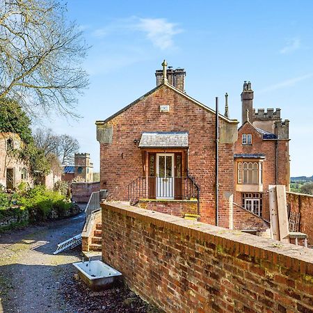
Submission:
<svg viewBox="0 0 313 313">
<path fill-rule="evenodd" d="M 153 131 L 141 136 L 139 147 L 188 147 L 188 133 L 184 131 Z"/>
</svg>

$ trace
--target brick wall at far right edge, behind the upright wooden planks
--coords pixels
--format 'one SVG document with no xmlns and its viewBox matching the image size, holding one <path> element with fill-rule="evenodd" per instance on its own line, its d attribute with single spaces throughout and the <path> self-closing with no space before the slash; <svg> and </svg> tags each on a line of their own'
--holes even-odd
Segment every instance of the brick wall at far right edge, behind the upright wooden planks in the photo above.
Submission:
<svg viewBox="0 0 313 313">
<path fill-rule="evenodd" d="M 300 232 L 307 234 L 307 243 L 313 245 L 313 195 L 287 192 L 291 212 L 300 212 Z"/>
</svg>

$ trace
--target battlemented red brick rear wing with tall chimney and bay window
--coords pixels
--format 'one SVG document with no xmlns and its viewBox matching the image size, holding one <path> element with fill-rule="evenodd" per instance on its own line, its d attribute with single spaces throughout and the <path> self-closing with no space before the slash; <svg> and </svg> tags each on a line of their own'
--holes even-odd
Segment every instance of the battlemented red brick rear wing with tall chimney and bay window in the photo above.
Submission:
<svg viewBox="0 0 313 313">
<path fill-rule="evenodd" d="M 243 125 L 234 147 L 234 202 L 269 220 L 268 185 L 285 185 L 289 191 L 289 120 L 280 109 L 252 106 L 251 84 L 241 93 Z"/>
</svg>

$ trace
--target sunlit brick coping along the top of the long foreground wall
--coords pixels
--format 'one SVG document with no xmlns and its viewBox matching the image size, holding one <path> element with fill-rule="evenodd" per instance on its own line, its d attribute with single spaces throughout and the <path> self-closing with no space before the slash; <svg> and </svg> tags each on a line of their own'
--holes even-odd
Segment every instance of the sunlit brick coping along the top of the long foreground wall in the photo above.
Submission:
<svg viewBox="0 0 313 313">
<path fill-rule="evenodd" d="M 221 246 L 226 252 L 235 255 L 248 255 L 268 262 L 277 260 L 278 266 L 292 268 L 294 271 L 313 276 L 313 250 L 302 246 L 265 239 L 239 230 L 228 230 L 223 227 L 186 220 L 177 216 L 159 213 L 138 207 L 131 207 L 121 202 L 102 202 L 101 207 L 117 214 L 137 218 L 144 223 L 178 232 L 186 236 L 209 241 Z M 102 215 L 104 218 L 105 215 Z"/>
</svg>

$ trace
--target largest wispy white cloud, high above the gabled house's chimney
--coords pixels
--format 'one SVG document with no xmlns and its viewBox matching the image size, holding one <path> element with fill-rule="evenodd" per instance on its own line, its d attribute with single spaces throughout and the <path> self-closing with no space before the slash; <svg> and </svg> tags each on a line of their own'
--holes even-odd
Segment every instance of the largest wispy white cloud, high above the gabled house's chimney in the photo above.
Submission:
<svg viewBox="0 0 313 313">
<path fill-rule="evenodd" d="M 127 34 L 141 32 L 145 34 L 147 40 L 152 42 L 152 45 L 161 50 L 174 47 L 174 36 L 177 33 L 182 33 L 178 24 L 168 22 L 163 18 L 140 18 L 129 17 L 127 19 L 118 19 L 115 22 L 96 29 L 92 35 L 97 38 L 104 38 L 112 34 Z"/>
</svg>

